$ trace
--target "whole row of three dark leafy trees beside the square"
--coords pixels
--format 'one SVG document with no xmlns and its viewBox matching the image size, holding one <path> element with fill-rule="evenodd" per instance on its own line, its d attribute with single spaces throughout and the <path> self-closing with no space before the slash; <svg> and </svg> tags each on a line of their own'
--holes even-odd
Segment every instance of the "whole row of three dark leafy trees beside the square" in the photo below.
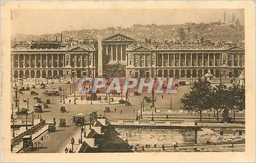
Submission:
<svg viewBox="0 0 256 163">
<path fill-rule="evenodd" d="M 230 110 L 233 112 L 235 121 L 236 112 L 245 109 L 245 85 L 233 83 L 228 87 L 220 83 L 212 87 L 206 79 L 199 79 L 193 83 L 191 91 L 184 94 L 181 102 L 183 110 L 187 110 L 189 113 L 199 113 L 201 122 L 204 110 L 214 110 L 217 114 L 217 122 L 219 122 L 221 112 Z M 225 115 L 223 116 L 225 117 Z"/>
</svg>

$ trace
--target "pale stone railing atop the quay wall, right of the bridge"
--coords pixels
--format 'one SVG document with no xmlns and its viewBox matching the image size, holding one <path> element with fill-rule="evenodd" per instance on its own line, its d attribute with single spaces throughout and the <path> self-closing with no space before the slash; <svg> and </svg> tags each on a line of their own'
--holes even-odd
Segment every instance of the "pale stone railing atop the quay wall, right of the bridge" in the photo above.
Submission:
<svg viewBox="0 0 256 163">
<path fill-rule="evenodd" d="M 133 125 L 133 126 L 195 126 L 195 121 L 129 121 L 108 120 L 111 125 Z"/>
</svg>

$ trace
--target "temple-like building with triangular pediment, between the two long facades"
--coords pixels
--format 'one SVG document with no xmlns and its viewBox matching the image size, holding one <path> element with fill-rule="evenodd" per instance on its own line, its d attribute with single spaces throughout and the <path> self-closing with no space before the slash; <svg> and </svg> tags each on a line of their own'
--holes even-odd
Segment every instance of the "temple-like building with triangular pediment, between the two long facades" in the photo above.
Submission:
<svg viewBox="0 0 256 163">
<path fill-rule="evenodd" d="M 110 64 L 119 62 L 125 65 L 126 49 L 134 42 L 134 39 L 119 33 L 104 38 L 102 39 L 102 55 L 109 55 Z"/>
</svg>

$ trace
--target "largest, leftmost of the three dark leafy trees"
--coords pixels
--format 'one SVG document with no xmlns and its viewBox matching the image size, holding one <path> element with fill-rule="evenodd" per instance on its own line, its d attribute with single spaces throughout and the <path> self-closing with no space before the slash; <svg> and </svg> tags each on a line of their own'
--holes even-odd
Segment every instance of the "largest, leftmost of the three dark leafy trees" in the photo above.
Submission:
<svg viewBox="0 0 256 163">
<path fill-rule="evenodd" d="M 202 112 L 211 108 L 212 87 L 210 82 L 205 79 L 195 81 L 191 86 L 191 91 L 181 98 L 181 102 L 183 110 L 187 110 L 189 113 L 199 113 L 200 122 L 202 122 Z"/>
</svg>

